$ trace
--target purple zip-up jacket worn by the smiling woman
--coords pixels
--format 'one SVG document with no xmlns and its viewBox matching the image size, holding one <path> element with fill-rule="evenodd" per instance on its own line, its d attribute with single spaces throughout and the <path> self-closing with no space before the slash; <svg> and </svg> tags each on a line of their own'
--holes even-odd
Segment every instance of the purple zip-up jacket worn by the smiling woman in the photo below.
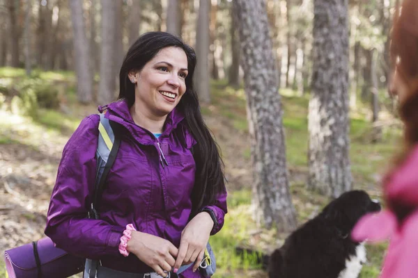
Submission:
<svg viewBox="0 0 418 278">
<path fill-rule="evenodd" d="M 108 106 L 105 117 L 125 128 L 121 146 L 107 177 L 108 185 L 98 211 L 100 220 L 87 219 L 90 195 L 95 183 L 99 115 L 80 123 L 63 149 L 45 234 L 57 247 L 102 265 L 125 272 L 152 272 L 130 254 L 124 257 L 118 245 L 126 224 L 180 245 L 192 209 L 190 195 L 194 186 L 195 163 L 190 148 L 196 143 L 187 130 L 184 117 L 171 112 L 160 138 L 134 124 L 125 101 Z M 160 163 L 160 147 L 168 165 Z M 226 192 L 216 204 L 208 206 L 217 218 L 211 234 L 224 224 Z M 183 277 L 201 277 L 189 268 Z"/>
</svg>

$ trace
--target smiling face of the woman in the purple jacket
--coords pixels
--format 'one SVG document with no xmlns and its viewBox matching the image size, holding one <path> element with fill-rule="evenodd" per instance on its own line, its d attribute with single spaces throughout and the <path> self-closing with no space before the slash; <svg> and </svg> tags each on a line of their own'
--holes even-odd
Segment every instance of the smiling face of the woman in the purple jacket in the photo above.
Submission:
<svg viewBox="0 0 418 278">
<path fill-rule="evenodd" d="M 135 84 L 135 105 L 143 113 L 162 117 L 173 111 L 186 91 L 187 56 L 183 49 L 167 47 L 140 72 L 130 72 Z"/>
</svg>

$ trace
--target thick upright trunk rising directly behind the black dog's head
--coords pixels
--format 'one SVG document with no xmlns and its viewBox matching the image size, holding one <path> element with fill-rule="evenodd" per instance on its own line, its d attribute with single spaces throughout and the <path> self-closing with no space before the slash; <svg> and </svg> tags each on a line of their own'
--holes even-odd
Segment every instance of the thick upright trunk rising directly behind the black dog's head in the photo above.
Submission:
<svg viewBox="0 0 418 278">
<path fill-rule="evenodd" d="M 348 118 L 348 0 L 314 1 L 314 74 L 309 101 L 309 188 L 352 188 Z"/>
</svg>

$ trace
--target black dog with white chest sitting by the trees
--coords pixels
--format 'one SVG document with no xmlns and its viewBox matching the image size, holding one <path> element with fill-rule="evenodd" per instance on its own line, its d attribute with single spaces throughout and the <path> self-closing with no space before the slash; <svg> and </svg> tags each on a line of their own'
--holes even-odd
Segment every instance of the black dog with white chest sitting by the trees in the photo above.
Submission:
<svg viewBox="0 0 418 278">
<path fill-rule="evenodd" d="M 357 278 L 366 262 L 362 243 L 350 239 L 356 222 L 380 211 L 362 190 L 343 193 L 294 231 L 268 263 L 270 278 Z"/>
</svg>

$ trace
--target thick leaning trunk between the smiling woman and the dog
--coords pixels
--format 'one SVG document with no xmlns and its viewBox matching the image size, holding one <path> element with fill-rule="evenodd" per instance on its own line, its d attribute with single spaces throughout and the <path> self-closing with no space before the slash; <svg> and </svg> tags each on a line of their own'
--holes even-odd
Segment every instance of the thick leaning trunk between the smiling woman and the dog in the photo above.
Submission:
<svg viewBox="0 0 418 278">
<path fill-rule="evenodd" d="M 245 56 L 245 93 L 254 170 L 256 221 L 279 231 L 296 227 L 289 192 L 286 147 L 276 61 L 272 53 L 265 0 L 233 1 Z"/>
</svg>

